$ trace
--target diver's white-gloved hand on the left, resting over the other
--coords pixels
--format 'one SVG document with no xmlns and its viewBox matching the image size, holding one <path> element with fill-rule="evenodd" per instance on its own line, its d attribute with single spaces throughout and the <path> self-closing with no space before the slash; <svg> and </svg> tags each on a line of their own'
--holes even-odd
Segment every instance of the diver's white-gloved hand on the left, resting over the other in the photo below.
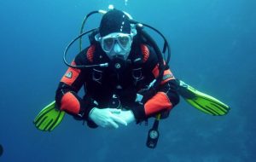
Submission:
<svg viewBox="0 0 256 162">
<path fill-rule="evenodd" d="M 121 110 L 116 108 L 96 108 L 90 110 L 89 117 L 97 125 L 103 128 L 119 128 L 119 124 L 127 125 L 124 119 L 121 119 L 116 114 L 119 114 Z"/>
</svg>

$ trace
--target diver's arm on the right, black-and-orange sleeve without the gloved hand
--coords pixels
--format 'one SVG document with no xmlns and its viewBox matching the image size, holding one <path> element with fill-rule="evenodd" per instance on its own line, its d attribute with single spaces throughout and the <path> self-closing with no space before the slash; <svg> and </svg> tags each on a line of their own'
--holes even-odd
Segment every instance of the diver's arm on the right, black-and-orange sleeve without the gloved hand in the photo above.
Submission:
<svg viewBox="0 0 256 162">
<path fill-rule="evenodd" d="M 148 48 L 149 57 L 145 62 L 143 69 L 148 70 L 146 77 L 154 79 L 159 75 L 158 61 L 153 49 Z M 132 107 L 132 113 L 134 114 L 137 122 L 149 117 L 154 116 L 157 113 L 169 112 L 179 102 L 179 95 L 177 94 L 177 85 L 175 78 L 169 68 L 164 71 L 163 79 L 160 83 L 160 87 L 153 95 L 143 96 L 147 98 L 141 103 L 137 103 L 135 107 Z"/>
</svg>

